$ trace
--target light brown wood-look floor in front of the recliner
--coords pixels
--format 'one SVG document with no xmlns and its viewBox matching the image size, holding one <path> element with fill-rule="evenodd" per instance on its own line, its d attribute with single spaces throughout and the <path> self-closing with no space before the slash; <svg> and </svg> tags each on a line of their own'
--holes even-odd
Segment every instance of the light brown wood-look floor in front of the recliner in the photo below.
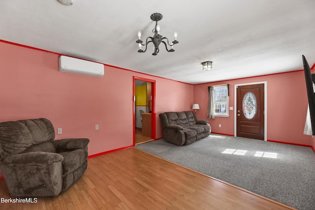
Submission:
<svg viewBox="0 0 315 210">
<path fill-rule="evenodd" d="M 10 198 L 0 181 L 0 198 Z M 90 158 L 83 177 L 56 197 L 1 210 L 289 210 L 269 199 L 129 148 Z"/>
</svg>

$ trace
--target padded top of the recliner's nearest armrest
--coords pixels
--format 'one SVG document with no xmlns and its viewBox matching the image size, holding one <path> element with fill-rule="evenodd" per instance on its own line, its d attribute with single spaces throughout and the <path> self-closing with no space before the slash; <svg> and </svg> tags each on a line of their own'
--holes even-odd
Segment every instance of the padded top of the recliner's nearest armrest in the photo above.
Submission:
<svg viewBox="0 0 315 210">
<path fill-rule="evenodd" d="M 1 165 L 7 166 L 46 166 L 54 162 L 62 162 L 63 155 L 52 152 L 35 151 L 22 154 L 14 154 L 4 158 Z"/>
</svg>

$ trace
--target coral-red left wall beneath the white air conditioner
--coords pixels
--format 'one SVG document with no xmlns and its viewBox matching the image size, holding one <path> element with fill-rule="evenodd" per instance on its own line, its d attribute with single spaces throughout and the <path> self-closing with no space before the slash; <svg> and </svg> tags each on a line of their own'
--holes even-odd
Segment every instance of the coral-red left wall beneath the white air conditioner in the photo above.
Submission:
<svg viewBox="0 0 315 210">
<path fill-rule="evenodd" d="M 0 121 L 47 118 L 56 139 L 89 138 L 92 155 L 132 146 L 133 76 L 156 81 L 157 139 L 159 113 L 192 105 L 192 85 L 106 65 L 101 78 L 63 73 L 59 57 L 0 42 Z M 63 134 L 57 135 L 57 128 Z"/>
</svg>

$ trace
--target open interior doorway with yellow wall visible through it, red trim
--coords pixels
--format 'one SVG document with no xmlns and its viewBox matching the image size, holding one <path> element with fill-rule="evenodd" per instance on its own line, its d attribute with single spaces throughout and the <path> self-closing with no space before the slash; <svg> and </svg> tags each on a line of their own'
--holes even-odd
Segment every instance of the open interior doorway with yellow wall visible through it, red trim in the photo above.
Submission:
<svg viewBox="0 0 315 210">
<path fill-rule="evenodd" d="M 133 145 L 155 140 L 155 80 L 133 77 Z"/>
</svg>

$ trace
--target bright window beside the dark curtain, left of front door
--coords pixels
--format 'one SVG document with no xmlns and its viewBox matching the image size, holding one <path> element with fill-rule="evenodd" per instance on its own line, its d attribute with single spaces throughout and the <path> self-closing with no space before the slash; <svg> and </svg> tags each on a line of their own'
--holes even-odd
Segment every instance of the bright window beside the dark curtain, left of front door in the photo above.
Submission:
<svg viewBox="0 0 315 210">
<path fill-rule="evenodd" d="M 215 116 L 228 117 L 228 88 L 227 85 L 214 86 Z"/>
</svg>

